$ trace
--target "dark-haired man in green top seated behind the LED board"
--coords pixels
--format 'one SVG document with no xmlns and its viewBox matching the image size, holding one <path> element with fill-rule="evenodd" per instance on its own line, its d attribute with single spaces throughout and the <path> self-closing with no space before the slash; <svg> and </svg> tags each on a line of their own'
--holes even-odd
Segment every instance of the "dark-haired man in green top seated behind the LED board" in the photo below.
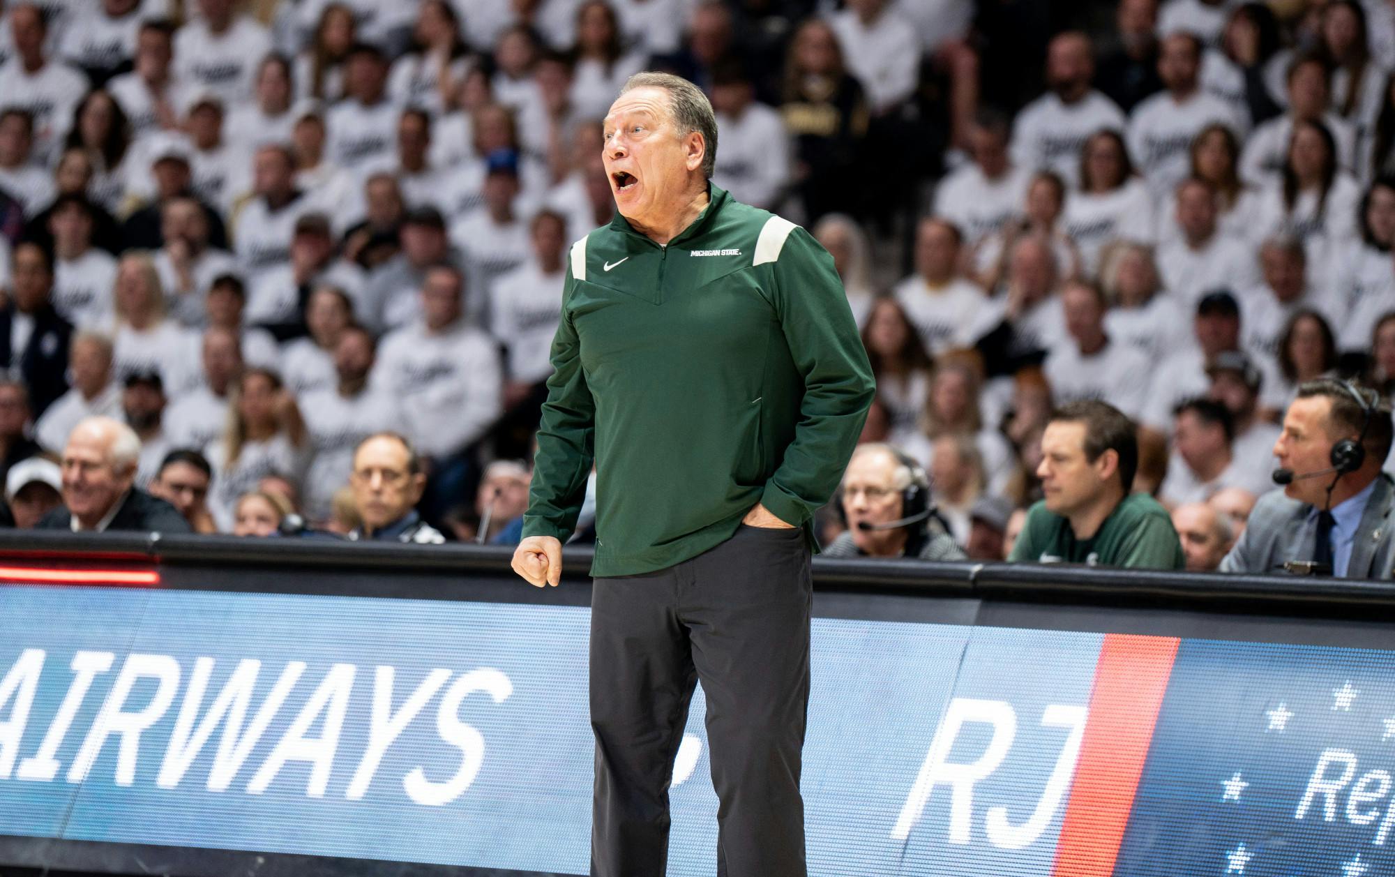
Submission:
<svg viewBox="0 0 1395 877">
<path fill-rule="evenodd" d="M 1182 542 L 1168 510 L 1130 493 L 1138 469 L 1133 422 L 1113 405 L 1070 402 L 1042 433 L 1045 499 L 1027 513 L 1010 561 L 1180 570 Z"/>
</svg>

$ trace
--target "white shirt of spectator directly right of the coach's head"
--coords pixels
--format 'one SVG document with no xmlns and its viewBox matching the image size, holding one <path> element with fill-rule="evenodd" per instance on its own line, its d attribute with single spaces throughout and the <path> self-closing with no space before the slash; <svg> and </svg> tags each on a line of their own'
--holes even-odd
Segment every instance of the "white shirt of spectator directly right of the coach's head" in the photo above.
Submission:
<svg viewBox="0 0 1395 877">
<path fill-rule="evenodd" d="M 790 135 L 784 120 L 764 103 L 752 103 L 739 119 L 717 113 L 721 148 L 713 182 L 744 204 L 776 209 L 790 184 Z"/>
</svg>

